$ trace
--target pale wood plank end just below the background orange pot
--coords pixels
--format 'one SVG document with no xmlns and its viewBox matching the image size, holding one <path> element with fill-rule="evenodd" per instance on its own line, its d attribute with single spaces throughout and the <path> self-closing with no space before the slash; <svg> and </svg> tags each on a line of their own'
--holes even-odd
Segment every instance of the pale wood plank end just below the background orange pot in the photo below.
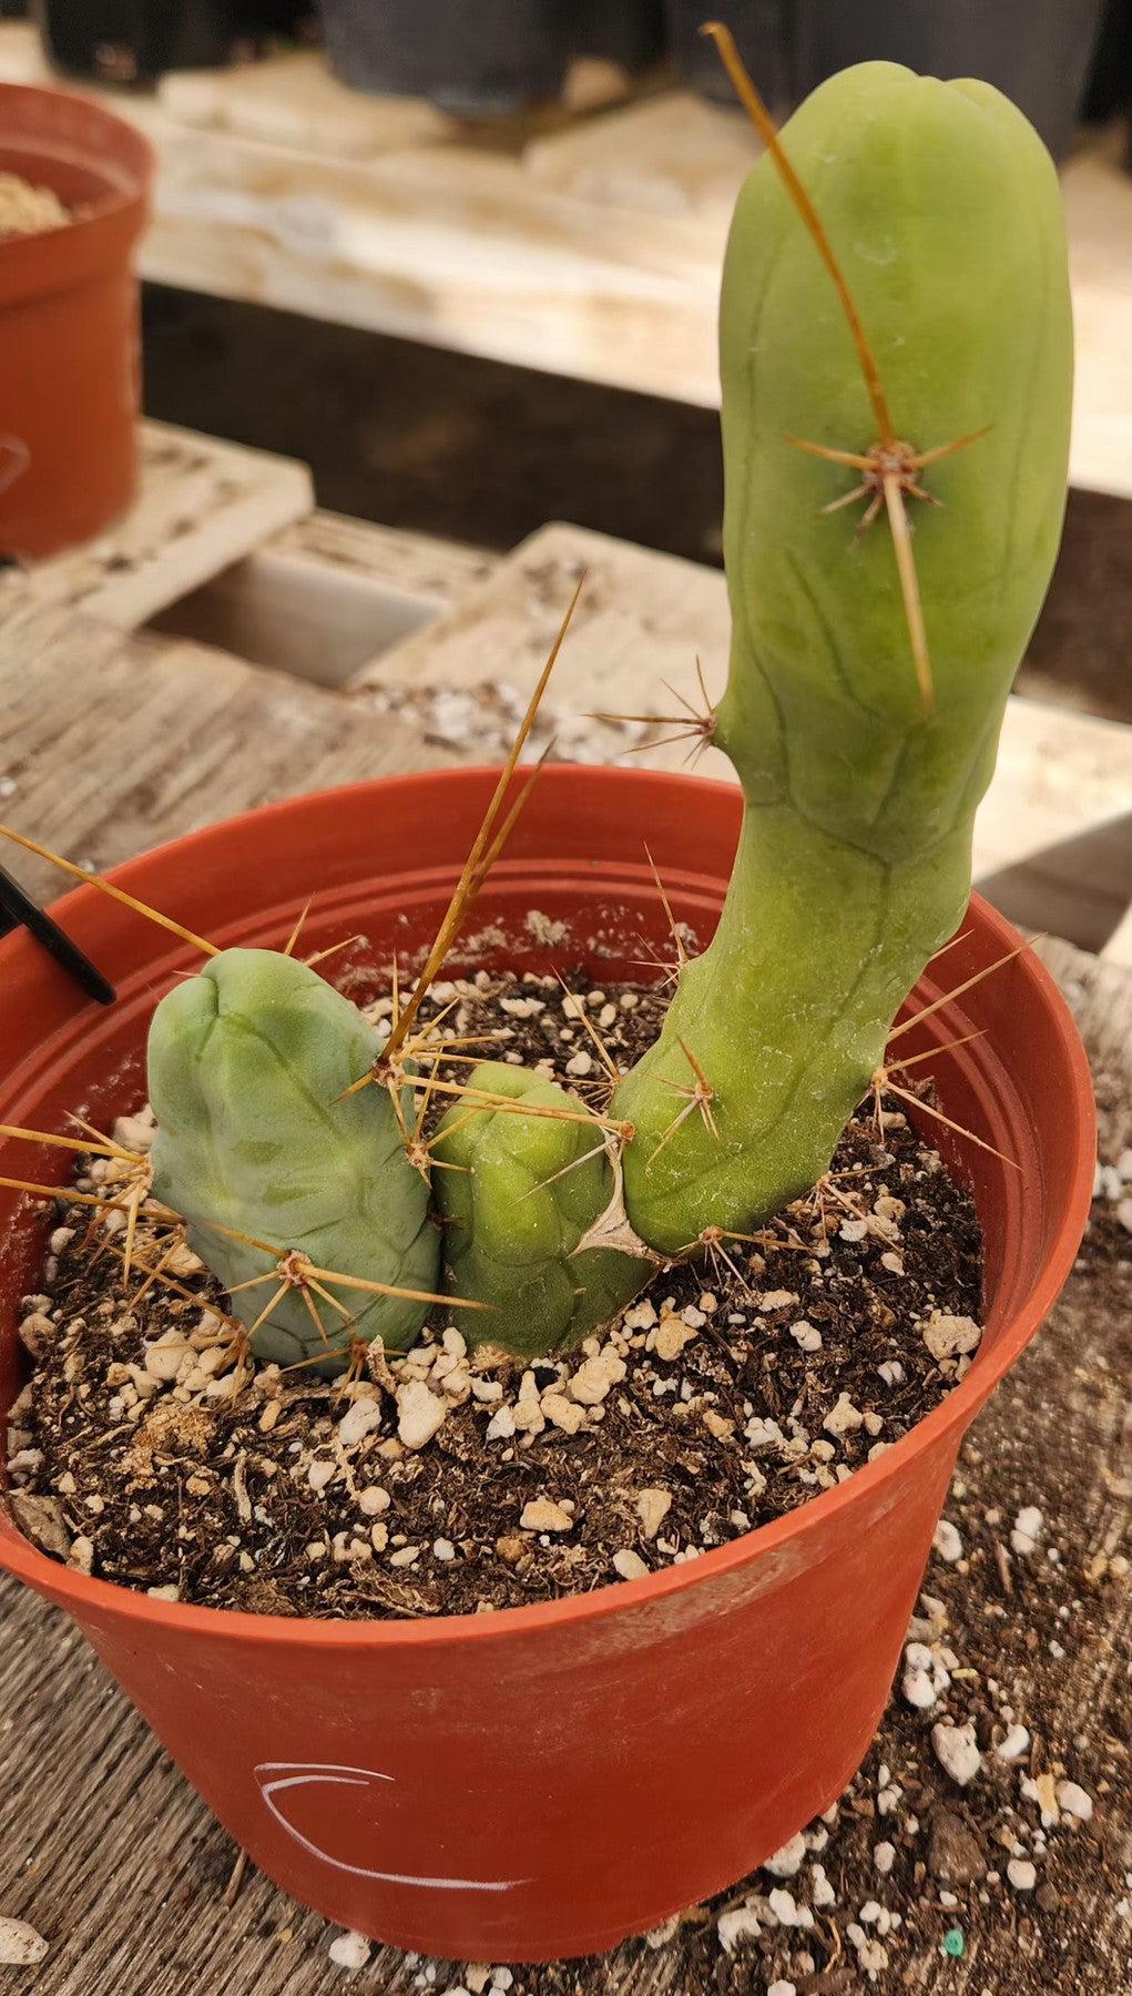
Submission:
<svg viewBox="0 0 1132 1996">
<path fill-rule="evenodd" d="M 130 631 L 311 505 L 311 475 L 293 457 L 142 423 L 130 511 L 96 541 L 26 571 L 0 569 L 0 619 L 14 605 L 56 603 Z"/>
</svg>

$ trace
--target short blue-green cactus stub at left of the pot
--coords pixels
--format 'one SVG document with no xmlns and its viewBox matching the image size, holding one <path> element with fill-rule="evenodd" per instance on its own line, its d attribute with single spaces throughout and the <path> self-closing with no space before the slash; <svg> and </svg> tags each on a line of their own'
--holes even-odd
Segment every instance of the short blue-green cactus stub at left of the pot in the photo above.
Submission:
<svg viewBox="0 0 1132 1996">
<path fill-rule="evenodd" d="M 383 1088 L 343 1098 L 379 1052 L 347 998 L 276 950 L 224 950 L 154 1014 L 154 1196 L 186 1218 L 190 1246 L 238 1291 L 232 1305 L 248 1327 L 272 1301 L 276 1257 L 234 1234 L 278 1244 L 280 1255 L 297 1249 L 337 1275 L 437 1289 L 429 1190 L 405 1158 L 393 1102 Z M 317 1363 L 343 1347 L 347 1329 L 401 1349 L 427 1313 L 403 1295 L 333 1293 L 355 1317 L 349 1327 L 325 1295 L 297 1285 L 256 1329 L 256 1355 Z"/>
</svg>

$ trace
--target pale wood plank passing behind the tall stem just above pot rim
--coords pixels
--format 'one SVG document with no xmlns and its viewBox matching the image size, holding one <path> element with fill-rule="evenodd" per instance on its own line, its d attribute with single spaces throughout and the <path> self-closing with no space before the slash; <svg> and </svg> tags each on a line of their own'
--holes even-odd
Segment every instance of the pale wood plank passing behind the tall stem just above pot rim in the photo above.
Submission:
<svg viewBox="0 0 1132 1996">
<path fill-rule="evenodd" d="M 591 709 L 671 715 L 665 681 L 695 699 L 697 657 L 709 693 L 721 691 L 729 645 L 723 575 L 581 527 L 543 527 L 447 617 L 365 667 L 355 679 L 359 699 L 363 689 L 381 699 L 389 687 L 467 691 L 495 681 L 525 697 L 583 569 L 587 585 L 551 683 L 551 715 L 571 717 L 571 725 Z M 655 729 L 657 739 L 669 733 Z M 669 745 L 633 762 L 675 768 L 685 754 L 687 745 Z M 733 778 L 717 750 L 699 770 Z M 1078 942 L 1102 942 L 1128 904 L 1130 798 L 1132 729 L 1010 699 L 998 770 L 976 820 L 976 880 L 992 880 L 1000 906 L 1016 908 L 1024 922 L 1060 924 Z M 1104 840 L 1086 836 L 1100 826 L 1110 828 Z"/>
</svg>

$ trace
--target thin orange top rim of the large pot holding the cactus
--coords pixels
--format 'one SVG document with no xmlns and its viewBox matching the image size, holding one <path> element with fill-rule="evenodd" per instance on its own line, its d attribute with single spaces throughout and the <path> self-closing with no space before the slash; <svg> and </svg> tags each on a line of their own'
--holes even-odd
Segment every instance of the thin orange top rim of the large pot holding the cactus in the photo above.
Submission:
<svg viewBox="0 0 1132 1996">
<path fill-rule="evenodd" d="M 687 776 L 669 770 L 657 772 L 619 766 L 595 770 L 589 764 L 573 762 L 557 762 L 545 768 L 541 784 L 561 784 L 563 778 L 577 774 L 579 768 L 585 768 L 589 778 L 603 774 L 607 780 L 615 780 L 625 786 L 655 782 L 657 774 L 665 774 L 669 780 L 681 782 L 683 786 L 695 786 L 705 800 L 707 794 L 719 794 L 721 790 L 727 792 L 729 798 L 739 796 L 735 784 L 711 776 Z M 234 824 L 248 818 L 260 818 L 264 824 L 270 824 L 272 818 L 291 810 L 301 810 L 315 800 L 337 798 L 343 806 L 347 806 L 351 796 L 369 794 L 377 784 L 411 782 L 413 786 L 427 784 L 429 788 L 443 790 L 443 786 L 453 778 L 459 782 L 485 782 L 497 774 L 499 764 L 461 764 L 457 768 L 413 770 L 401 776 L 375 776 L 353 784 L 307 790 L 299 796 L 262 804 L 254 810 L 238 812 L 236 818 L 222 820 L 222 824 Z M 164 858 L 176 852 L 186 852 L 198 840 L 216 834 L 220 828 L 222 826 L 218 824 L 200 826 L 180 838 L 170 838 L 158 846 L 150 846 L 146 852 L 110 868 L 104 878 L 114 884 L 130 886 L 130 876 L 136 866 L 150 862 L 156 856 Z M 96 894 L 98 890 L 90 886 L 74 888 L 70 894 L 64 894 L 60 900 L 50 904 L 50 914 L 66 926 L 68 914 L 74 912 L 76 904 L 86 906 Z M 1002 944 L 1002 954 L 1018 948 L 1018 930 L 1006 920 L 1006 916 L 998 914 L 990 902 L 974 892 L 970 896 L 970 906 L 978 908 L 982 922 L 996 934 Z M 0 962 L 4 954 L 20 946 L 28 946 L 28 938 L 22 930 L 14 930 L 12 936 L 0 942 Z M 795 1539 L 803 1537 L 803 1533 L 821 1527 L 827 1519 L 833 1519 L 837 1513 L 856 1503 L 860 1497 L 880 1491 L 886 1483 L 898 1479 L 914 1455 L 930 1449 L 932 1443 L 942 1441 L 944 1433 L 950 1429 L 966 1429 L 978 1407 L 988 1399 L 992 1389 L 1014 1365 L 1034 1331 L 1050 1313 L 1072 1269 L 1092 1204 L 1096 1164 L 1092 1074 L 1088 1068 L 1088 1056 L 1072 1022 L 1072 1014 L 1046 966 L 1038 956 L 1034 956 L 1032 950 L 1022 950 L 1022 954 L 1016 956 L 1016 966 L 1018 974 L 1026 976 L 1034 984 L 1036 994 L 1056 1024 L 1064 1060 L 1062 1074 L 1070 1084 L 1070 1098 L 1078 1106 L 1080 1128 L 1072 1186 L 1064 1200 L 1060 1224 L 1056 1228 L 1056 1242 L 1046 1255 L 1042 1271 L 1034 1281 L 1024 1307 L 1002 1325 L 998 1337 L 994 1339 L 994 1347 L 986 1353 L 986 1357 L 978 1357 L 946 1399 L 942 1399 L 922 1421 L 916 1421 L 906 1435 L 894 1441 L 880 1457 L 876 1457 L 876 1461 L 854 1469 L 852 1475 L 835 1489 L 821 1491 L 817 1497 L 807 1497 L 807 1501 L 795 1511 L 773 1519 L 769 1525 L 759 1525 L 755 1531 L 747 1531 L 739 1539 L 731 1539 L 727 1545 L 701 1553 L 699 1559 L 687 1561 L 685 1565 L 665 1567 L 639 1581 L 607 1583 L 605 1587 L 597 1587 L 585 1595 L 563 1595 L 557 1601 L 535 1601 L 525 1607 L 497 1609 L 491 1615 L 435 1615 L 411 1621 L 389 1619 L 369 1623 L 329 1621 L 321 1617 L 252 1615 L 246 1609 L 212 1609 L 198 1607 L 188 1601 L 156 1601 L 150 1595 L 122 1587 L 116 1581 L 100 1581 L 60 1565 L 56 1559 L 48 1559 L 46 1553 L 40 1553 L 30 1539 L 14 1529 L 14 1525 L 8 1533 L 0 1533 L 0 1565 L 56 1603 L 66 1605 L 78 1619 L 84 1621 L 98 1621 L 102 1611 L 114 1617 L 136 1617 L 140 1625 L 162 1631 L 178 1631 L 186 1637 L 200 1635 L 204 1639 L 234 1643 L 264 1641 L 266 1645 L 301 1647 L 307 1651 L 353 1651 L 359 1647 L 405 1649 L 411 1645 L 435 1647 L 447 1643 L 491 1643 L 505 1641 L 507 1637 L 519 1633 L 535 1633 L 539 1629 L 549 1631 L 553 1627 L 597 1621 L 605 1615 L 617 1613 L 621 1607 L 643 1609 L 661 1605 L 671 1595 L 695 1587 L 699 1579 L 719 1581 L 733 1569 L 743 1567 L 751 1559 L 753 1551 L 767 1557 L 775 1555 Z"/>
</svg>

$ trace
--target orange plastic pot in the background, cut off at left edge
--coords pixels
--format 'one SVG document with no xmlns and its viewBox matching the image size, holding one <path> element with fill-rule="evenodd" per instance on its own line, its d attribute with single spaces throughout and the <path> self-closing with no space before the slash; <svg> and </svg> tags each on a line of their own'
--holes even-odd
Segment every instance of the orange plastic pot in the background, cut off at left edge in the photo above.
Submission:
<svg viewBox="0 0 1132 1996">
<path fill-rule="evenodd" d="M 64 90 L 0 84 L 0 172 L 76 220 L 0 242 L 0 555 L 88 541 L 136 483 L 138 281 L 154 156 L 134 126 Z"/>
</svg>

